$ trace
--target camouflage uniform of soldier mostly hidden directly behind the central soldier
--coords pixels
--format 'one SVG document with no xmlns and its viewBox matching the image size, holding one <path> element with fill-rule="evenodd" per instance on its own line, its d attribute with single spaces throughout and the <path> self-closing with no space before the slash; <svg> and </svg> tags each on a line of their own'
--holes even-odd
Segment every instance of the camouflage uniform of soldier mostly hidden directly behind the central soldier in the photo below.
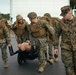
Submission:
<svg viewBox="0 0 76 75">
<path fill-rule="evenodd" d="M 48 22 L 49 25 L 53 26 L 52 25 L 52 21 L 49 17 L 48 13 L 45 14 L 45 16 L 41 17 L 40 19 L 43 19 L 43 20 L 46 20 Z M 49 46 L 49 59 L 52 59 L 53 58 L 53 53 L 52 53 L 52 45 L 53 45 L 53 37 L 52 37 L 52 34 L 50 34 L 50 32 L 47 30 L 47 41 L 48 41 L 48 46 Z"/>
</svg>

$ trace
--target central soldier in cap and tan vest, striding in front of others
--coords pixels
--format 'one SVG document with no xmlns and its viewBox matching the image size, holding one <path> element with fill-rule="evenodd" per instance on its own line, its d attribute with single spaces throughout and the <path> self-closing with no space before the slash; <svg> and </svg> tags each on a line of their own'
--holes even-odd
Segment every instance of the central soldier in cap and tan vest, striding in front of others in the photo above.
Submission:
<svg viewBox="0 0 76 75">
<path fill-rule="evenodd" d="M 39 62 L 40 66 L 38 69 L 38 72 L 43 72 L 44 68 L 46 66 L 46 31 L 49 30 L 49 32 L 54 35 L 55 30 L 52 26 L 48 25 L 48 23 L 45 20 L 39 20 L 37 18 L 37 14 L 35 12 L 30 12 L 28 14 L 28 18 L 31 21 L 30 23 L 30 31 L 31 35 L 33 36 L 34 40 L 38 39 L 40 43 L 40 49 L 39 49 Z"/>
</svg>

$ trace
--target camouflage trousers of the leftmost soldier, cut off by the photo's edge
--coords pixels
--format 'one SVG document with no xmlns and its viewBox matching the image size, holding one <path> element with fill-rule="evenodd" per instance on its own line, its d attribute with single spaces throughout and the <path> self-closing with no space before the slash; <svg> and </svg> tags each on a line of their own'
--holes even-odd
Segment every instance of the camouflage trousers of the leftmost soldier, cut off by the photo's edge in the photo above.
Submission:
<svg viewBox="0 0 76 75">
<path fill-rule="evenodd" d="M 6 43 L 0 44 L 0 48 L 1 48 L 3 61 L 7 61 L 8 56 L 7 56 L 7 45 L 6 45 Z"/>
</svg>

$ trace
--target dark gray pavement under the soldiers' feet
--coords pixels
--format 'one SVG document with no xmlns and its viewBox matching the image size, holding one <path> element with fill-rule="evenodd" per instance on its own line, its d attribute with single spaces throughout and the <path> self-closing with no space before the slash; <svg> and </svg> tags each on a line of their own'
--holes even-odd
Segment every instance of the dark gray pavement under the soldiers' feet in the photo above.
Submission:
<svg viewBox="0 0 76 75">
<path fill-rule="evenodd" d="M 13 34 L 11 34 L 11 39 L 11 43 L 15 51 L 18 48 Z M 66 75 L 60 55 L 58 62 L 55 62 L 53 65 L 47 63 L 47 66 L 45 67 L 45 71 L 43 73 L 37 72 L 39 66 L 38 59 L 27 60 L 27 62 L 24 65 L 19 66 L 17 62 L 17 55 L 10 56 L 8 52 L 8 60 L 9 68 L 5 69 L 3 67 L 3 61 L 1 59 L 0 52 L 0 75 Z"/>
</svg>

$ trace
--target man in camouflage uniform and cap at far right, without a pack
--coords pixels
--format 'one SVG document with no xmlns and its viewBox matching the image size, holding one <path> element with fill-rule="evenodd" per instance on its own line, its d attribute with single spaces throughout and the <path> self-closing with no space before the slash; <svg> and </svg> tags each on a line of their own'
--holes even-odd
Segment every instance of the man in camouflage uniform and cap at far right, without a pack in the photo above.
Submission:
<svg viewBox="0 0 76 75">
<path fill-rule="evenodd" d="M 67 75 L 76 75 L 76 17 L 70 6 L 63 6 L 60 20 L 61 58 Z M 57 51 L 57 49 L 55 49 Z"/>
</svg>

